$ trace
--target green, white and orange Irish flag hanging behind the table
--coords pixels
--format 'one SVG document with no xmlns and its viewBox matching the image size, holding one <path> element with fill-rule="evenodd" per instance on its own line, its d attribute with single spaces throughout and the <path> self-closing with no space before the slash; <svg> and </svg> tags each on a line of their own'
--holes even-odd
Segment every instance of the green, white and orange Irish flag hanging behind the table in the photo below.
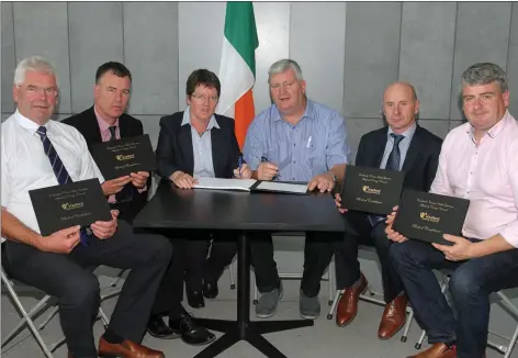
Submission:
<svg viewBox="0 0 518 358">
<path fill-rule="evenodd" d="M 227 2 L 219 80 L 222 94 L 216 113 L 234 116 L 243 148 L 255 116 L 251 89 L 256 81 L 256 48 L 259 46 L 251 2 Z M 234 115 L 232 115 L 234 112 Z"/>
</svg>

